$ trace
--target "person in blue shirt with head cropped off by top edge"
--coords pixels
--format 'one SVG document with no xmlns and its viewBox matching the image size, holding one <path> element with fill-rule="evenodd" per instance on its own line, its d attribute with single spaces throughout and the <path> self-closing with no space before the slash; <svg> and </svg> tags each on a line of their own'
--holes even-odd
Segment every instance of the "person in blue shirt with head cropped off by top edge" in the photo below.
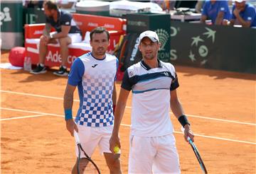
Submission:
<svg viewBox="0 0 256 174">
<path fill-rule="evenodd" d="M 207 19 L 210 19 L 212 24 L 215 25 L 225 25 L 228 23 L 230 19 L 228 1 L 206 1 L 203 5 L 201 23 L 206 23 Z"/>
</svg>

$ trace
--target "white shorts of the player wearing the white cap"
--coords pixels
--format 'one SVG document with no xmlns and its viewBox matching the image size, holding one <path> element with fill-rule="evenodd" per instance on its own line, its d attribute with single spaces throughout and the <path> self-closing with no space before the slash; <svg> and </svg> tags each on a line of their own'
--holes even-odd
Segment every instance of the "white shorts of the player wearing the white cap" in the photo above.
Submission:
<svg viewBox="0 0 256 174">
<path fill-rule="evenodd" d="M 174 134 L 130 136 L 128 173 L 181 173 Z"/>
</svg>

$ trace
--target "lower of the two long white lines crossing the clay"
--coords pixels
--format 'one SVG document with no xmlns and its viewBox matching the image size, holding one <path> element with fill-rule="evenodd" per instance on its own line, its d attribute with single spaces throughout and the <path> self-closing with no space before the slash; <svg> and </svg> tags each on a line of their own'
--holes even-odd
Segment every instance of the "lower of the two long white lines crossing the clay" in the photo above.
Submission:
<svg viewBox="0 0 256 174">
<path fill-rule="evenodd" d="M 1 110 L 12 110 L 12 111 L 19 111 L 19 112 L 35 113 L 35 114 L 38 114 L 38 115 L 51 115 L 51 116 L 55 116 L 55 117 L 64 117 L 63 115 L 50 114 L 50 113 L 44 113 L 44 112 L 35 112 L 35 111 L 31 111 L 31 110 L 19 110 L 19 109 L 1 108 L 1 107 L 0 107 L 0 109 Z M 124 126 L 124 127 L 131 127 L 131 125 L 129 125 L 129 124 L 121 124 L 121 125 Z M 177 131 L 174 131 L 174 133 L 183 134 L 183 132 L 177 132 Z M 251 141 L 240 141 L 240 140 L 236 140 L 236 139 L 225 139 L 225 138 L 206 136 L 206 135 L 201 135 L 201 134 L 195 134 L 195 135 L 197 137 L 205 137 L 205 138 L 209 138 L 209 139 L 220 139 L 220 140 L 224 140 L 224 141 L 234 141 L 234 142 L 245 143 L 245 144 L 256 144 L 256 142 L 251 142 Z"/>
</svg>

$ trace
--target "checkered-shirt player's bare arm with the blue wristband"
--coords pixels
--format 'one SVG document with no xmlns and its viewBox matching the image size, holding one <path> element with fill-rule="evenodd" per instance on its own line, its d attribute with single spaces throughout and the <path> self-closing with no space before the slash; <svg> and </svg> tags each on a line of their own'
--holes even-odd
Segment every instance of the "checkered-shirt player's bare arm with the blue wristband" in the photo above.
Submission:
<svg viewBox="0 0 256 174">
<path fill-rule="evenodd" d="M 75 91 L 76 86 L 72 86 L 70 84 L 67 84 L 64 94 L 64 110 L 71 110 L 73 106 L 73 95 Z M 76 126 L 73 118 L 66 120 L 66 128 L 68 129 L 68 132 L 73 136 L 74 129 L 78 132 L 78 127 Z"/>
</svg>

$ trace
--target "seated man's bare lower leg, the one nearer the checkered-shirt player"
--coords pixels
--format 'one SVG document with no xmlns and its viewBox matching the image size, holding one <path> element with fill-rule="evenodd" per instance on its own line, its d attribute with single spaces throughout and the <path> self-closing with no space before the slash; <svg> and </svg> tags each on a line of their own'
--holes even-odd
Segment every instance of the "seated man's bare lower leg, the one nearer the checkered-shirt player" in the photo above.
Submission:
<svg viewBox="0 0 256 174">
<path fill-rule="evenodd" d="M 60 57 L 61 57 L 61 65 L 66 66 L 68 62 L 68 45 L 71 43 L 70 37 L 62 37 L 59 39 L 60 42 Z"/>
</svg>

